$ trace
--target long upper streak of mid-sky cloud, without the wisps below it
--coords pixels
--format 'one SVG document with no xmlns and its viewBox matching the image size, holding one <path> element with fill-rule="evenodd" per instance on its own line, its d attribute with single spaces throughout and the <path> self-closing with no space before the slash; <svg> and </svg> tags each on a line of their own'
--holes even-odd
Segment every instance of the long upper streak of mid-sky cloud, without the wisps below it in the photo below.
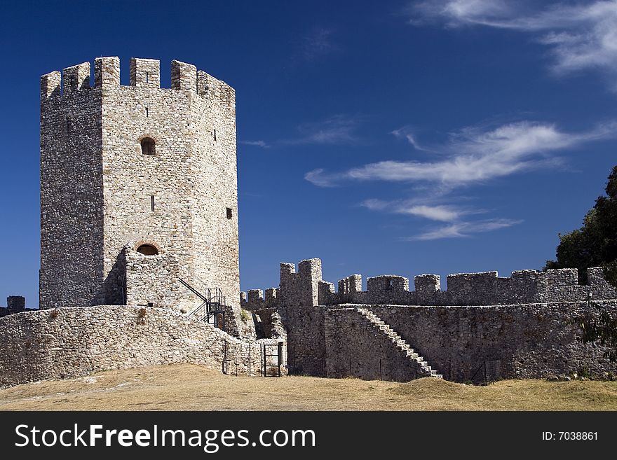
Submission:
<svg viewBox="0 0 617 460">
<path fill-rule="evenodd" d="M 431 182 L 456 188 L 554 165 L 552 154 L 555 151 L 614 137 L 617 137 L 617 123 L 614 122 L 576 133 L 530 121 L 488 131 L 468 127 L 451 134 L 447 144 L 435 149 L 446 155 L 445 160 L 386 160 L 332 173 L 314 169 L 307 172 L 304 179 L 321 187 L 336 186 L 344 181 L 391 181 Z"/>
</svg>

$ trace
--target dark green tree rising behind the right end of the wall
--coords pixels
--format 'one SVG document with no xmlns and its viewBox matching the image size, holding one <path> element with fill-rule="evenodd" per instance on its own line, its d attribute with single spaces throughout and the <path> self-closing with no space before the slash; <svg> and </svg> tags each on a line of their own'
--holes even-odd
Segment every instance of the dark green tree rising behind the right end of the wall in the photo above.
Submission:
<svg viewBox="0 0 617 460">
<path fill-rule="evenodd" d="M 589 267 L 604 267 L 606 279 L 617 286 L 617 166 L 606 182 L 606 196 L 598 197 L 583 219 L 583 226 L 560 234 L 557 260 L 547 260 L 544 270 L 578 268 L 581 282 Z"/>
</svg>

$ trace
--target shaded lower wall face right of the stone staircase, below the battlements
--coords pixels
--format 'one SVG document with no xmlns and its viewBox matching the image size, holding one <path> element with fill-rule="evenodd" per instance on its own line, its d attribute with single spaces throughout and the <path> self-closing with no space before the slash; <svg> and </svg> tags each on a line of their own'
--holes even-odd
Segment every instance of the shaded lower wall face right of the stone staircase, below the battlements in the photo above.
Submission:
<svg viewBox="0 0 617 460">
<path fill-rule="evenodd" d="M 360 305 L 341 305 L 353 307 Z M 361 305 L 374 312 L 446 379 L 468 382 L 487 363 L 488 377 L 543 378 L 574 372 L 602 377 L 617 374 L 617 363 L 605 358 L 608 347 L 583 344 L 574 319 L 604 309 L 617 317 L 617 300 L 555 302 L 483 307 Z M 337 308 L 332 310 L 336 312 Z M 348 319 L 348 317 L 345 317 Z M 328 322 L 332 321 L 326 315 Z M 352 319 L 337 322 L 355 349 L 354 359 L 376 372 L 376 350 L 349 335 Z M 345 331 L 345 332 L 344 332 Z M 326 342 L 326 349 L 336 345 Z M 338 347 L 338 345 L 337 345 Z M 483 375 L 484 370 L 476 374 Z"/>
</svg>

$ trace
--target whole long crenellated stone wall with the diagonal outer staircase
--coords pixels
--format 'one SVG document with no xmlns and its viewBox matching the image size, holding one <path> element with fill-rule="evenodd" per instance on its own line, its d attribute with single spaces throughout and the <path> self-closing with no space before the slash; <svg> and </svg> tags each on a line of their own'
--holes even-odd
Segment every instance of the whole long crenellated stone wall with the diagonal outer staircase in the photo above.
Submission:
<svg viewBox="0 0 617 460">
<path fill-rule="evenodd" d="M 280 288 L 242 295 L 243 308 L 278 312 L 287 332 L 289 372 L 323 377 L 405 380 L 443 376 L 456 382 L 498 378 L 595 377 L 617 372 L 607 347 L 583 343 L 581 315 L 617 317 L 617 290 L 602 268 L 579 285 L 572 269 L 454 274 L 446 291 L 424 274 L 353 274 L 323 281 L 321 260 L 299 271 L 280 264 Z M 480 375 L 480 377 L 477 377 Z"/>
</svg>

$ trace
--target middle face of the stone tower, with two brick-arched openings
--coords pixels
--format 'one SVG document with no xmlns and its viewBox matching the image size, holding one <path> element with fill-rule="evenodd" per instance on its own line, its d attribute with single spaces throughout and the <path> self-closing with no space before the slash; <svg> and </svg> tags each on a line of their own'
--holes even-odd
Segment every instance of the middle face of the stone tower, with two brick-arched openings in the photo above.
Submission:
<svg viewBox="0 0 617 460">
<path fill-rule="evenodd" d="M 116 280 L 123 274 L 118 256 L 126 245 L 137 249 L 143 243 L 153 244 L 161 256 L 175 258 L 184 272 L 172 273 L 172 277 L 186 278 L 194 270 L 193 139 L 188 132 L 191 96 L 159 88 L 156 60 L 131 60 L 128 86 L 120 85 L 117 58 L 98 61 L 102 69 L 110 69 L 109 73 L 116 77 L 102 84 L 104 276 L 108 279 L 104 302 L 122 304 L 121 284 Z M 146 137 L 154 140 L 155 155 L 142 154 L 140 142 Z M 154 273 L 142 273 L 142 283 L 151 284 L 149 302 L 158 305 L 169 281 Z M 165 304 L 175 302 L 177 308 L 189 307 L 183 305 L 182 296 L 173 297 Z"/>
</svg>

